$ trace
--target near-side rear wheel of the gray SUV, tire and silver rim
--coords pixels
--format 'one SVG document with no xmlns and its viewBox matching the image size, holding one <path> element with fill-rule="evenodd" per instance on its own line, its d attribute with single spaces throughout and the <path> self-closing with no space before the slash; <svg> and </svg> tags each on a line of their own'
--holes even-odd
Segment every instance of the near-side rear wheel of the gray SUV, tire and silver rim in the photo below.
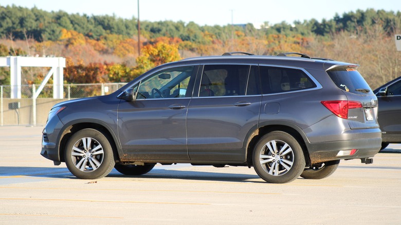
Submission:
<svg viewBox="0 0 401 225">
<path fill-rule="evenodd" d="M 253 150 L 256 173 L 270 183 L 287 183 L 305 168 L 302 147 L 291 135 L 275 131 L 263 136 Z"/>
</svg>

